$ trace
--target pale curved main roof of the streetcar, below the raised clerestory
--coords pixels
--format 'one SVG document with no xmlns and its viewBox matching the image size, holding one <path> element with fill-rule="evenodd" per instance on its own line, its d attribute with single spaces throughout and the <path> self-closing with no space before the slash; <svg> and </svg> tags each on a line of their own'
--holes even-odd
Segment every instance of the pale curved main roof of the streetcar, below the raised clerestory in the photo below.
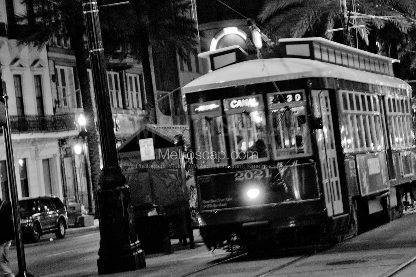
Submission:
<svg viewBox="0 0 416 277">
<path fill-rule="evenodd" d="M 310 59 L 275 58 L 242 61 L 217 69 L 188 83 L 182 88 L 182 93 L 313 77 L 342 78 L 379 86 L 411 88 L 405 81 L 392 76 Z"/>
</svg>

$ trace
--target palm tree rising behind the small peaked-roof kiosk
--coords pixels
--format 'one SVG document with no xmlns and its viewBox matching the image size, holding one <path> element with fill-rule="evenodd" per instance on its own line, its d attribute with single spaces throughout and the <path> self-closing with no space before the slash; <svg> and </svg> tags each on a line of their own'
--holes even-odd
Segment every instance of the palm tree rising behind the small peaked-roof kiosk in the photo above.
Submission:
<svg viewBox="0 0 416 277">
<path fill-rule="evenodd" d="M 149 122 L 156 123 L 149 47 L 161 51 L 165 47 L 174 47 L 183 55 L 198 44 L 198 31 L 194 20 L 187 16 L 191 10 L 189 0 L 136 0 L 130 3 L 137 23 L 131 44 L 136 47 L 137 57 L 143 65 Z"/>
</svg>

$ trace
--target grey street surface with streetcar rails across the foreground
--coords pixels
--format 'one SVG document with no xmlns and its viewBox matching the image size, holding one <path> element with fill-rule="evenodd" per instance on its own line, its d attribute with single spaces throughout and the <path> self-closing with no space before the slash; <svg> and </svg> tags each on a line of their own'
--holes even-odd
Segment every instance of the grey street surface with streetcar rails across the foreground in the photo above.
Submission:
<svg viewBox="0 0 416 277">
<path fill-rule="evenodd" d="M 97 276 L 99 233 L 68 235 L 53 241 L 48 238 L 54 235 L 25 245 L 28 272 L 37 277 Z M 215 250 L 213 256 L 205 246 L 197 245 L 195 249 L 176 248 L 170 255 L 146 255 L 146 268 L 104 276 L 379 277 L 416 256 L 416 213 L 311 255 L 317 249 L 258 252 L 221 263 L 231 257 L 228 252 Z M 11 259 L 17 272 L 15 248 Z M 411 272 L 409 276 L 415 276 L 411 268 L 416 267 L 412 264 L 397 276 L 407 276 L 406 270 Z"/>
</svg>

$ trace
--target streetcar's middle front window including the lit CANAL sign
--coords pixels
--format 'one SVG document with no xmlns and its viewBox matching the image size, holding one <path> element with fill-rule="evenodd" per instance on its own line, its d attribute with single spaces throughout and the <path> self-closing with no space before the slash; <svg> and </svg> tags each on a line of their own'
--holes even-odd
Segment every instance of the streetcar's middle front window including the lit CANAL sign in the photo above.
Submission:
<svg viewBox="0 0 416 277">
<path fill-rule="evenodd" d="M 269 159 L 267 129 L 262 96 L 224 100 L 233 164 Z"/>
</svg>

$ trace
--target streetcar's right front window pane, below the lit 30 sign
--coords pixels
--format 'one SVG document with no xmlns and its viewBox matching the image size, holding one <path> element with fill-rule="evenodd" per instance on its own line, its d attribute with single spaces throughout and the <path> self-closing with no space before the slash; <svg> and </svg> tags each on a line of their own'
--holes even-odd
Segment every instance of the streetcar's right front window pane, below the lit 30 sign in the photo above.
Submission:
<svg viewBox="0 0 416 277">
<path fill-rule="evenodd" d="M 306 107 L 282 107 L 271 111 L 272 145 L 275 159 L 310 154 Z"/>
</svg>

